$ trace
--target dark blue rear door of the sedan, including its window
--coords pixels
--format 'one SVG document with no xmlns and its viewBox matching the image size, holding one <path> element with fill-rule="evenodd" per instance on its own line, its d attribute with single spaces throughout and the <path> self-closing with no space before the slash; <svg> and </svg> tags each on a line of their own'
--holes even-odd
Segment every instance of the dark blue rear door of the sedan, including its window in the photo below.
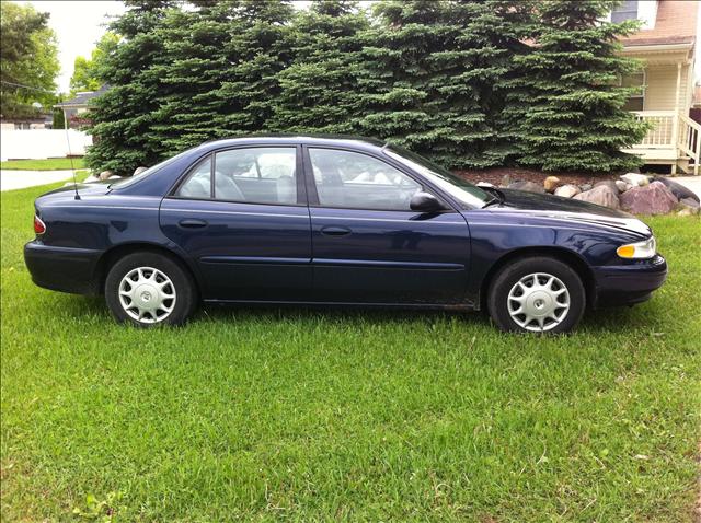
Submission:
<svg viewBox="0 0 701 523">
<path fill-rule="evenodd" d="M 204 299 L 309 299 L 311 231 L 298 149 L 212 152 L 161 202 L 161 228 L 197 264 Z"/>
</svg>

